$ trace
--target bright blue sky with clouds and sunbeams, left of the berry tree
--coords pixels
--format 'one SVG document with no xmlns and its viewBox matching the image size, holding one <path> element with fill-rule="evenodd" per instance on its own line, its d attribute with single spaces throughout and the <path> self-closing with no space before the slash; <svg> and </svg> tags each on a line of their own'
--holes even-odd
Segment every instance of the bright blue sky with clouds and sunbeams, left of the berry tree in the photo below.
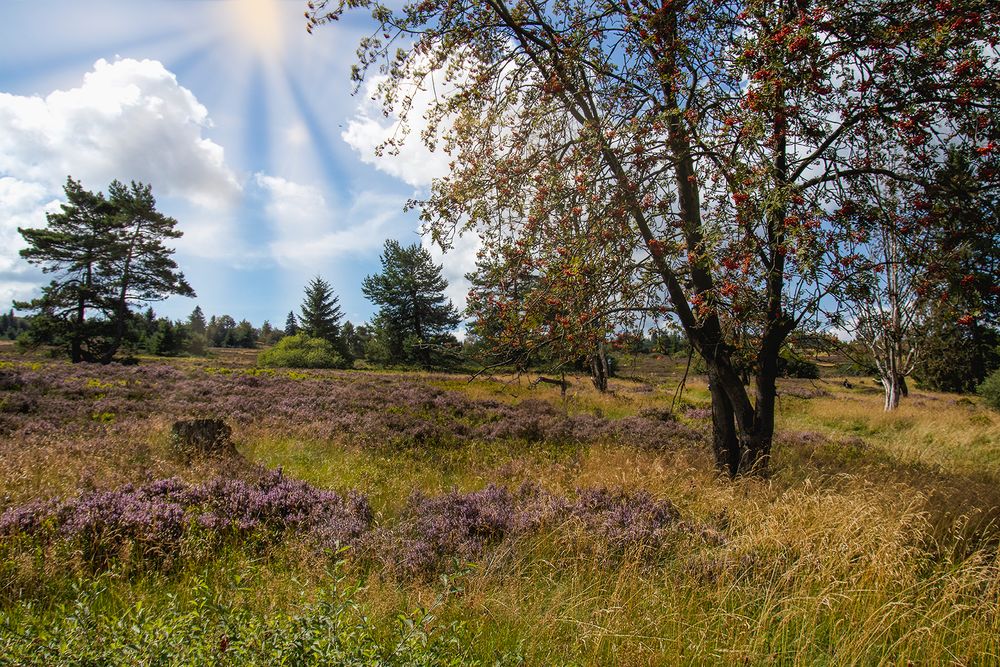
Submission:
<svg viewBox="0 0 1000 667">
<path fill-rule="evenodd" d="M 282 326 L 311 277 L 344 317 L 375 311 L 361 293 L 386 239 L 419 235 L 407 199 L 448 160 L 420 145 L 375 155 L 396 129 L 352 95 L 363 12 L 306 33 L 305 0 L 0 0 L 0 307 L 48 282 L 24 262 L 18 227 L 58 210 L 67 176 L 106 191 L 149 183 L 184 236 L 175 259 L 197 292 L 152 304 L 186 318 L 200 305 Z M 464 307 L 475 240 L 442 255 Z"/>
</svg>

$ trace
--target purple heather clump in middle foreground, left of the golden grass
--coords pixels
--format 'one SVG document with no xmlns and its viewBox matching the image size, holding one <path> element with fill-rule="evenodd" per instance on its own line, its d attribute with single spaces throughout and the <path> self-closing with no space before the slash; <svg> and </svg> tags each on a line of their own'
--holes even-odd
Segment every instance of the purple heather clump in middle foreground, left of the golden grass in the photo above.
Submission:
<svg viewBox="0 0 1000 667">
<path fill-rule="evenodd" d="M 612 550 L 658 549 L 684 524 L 674 505 L 649 493 L 580 489 L 568 499 L 523 485 L 471 493 L 414 493 L 399 524 L 374 531 L 363 550 L 405 576 L 433 573 L 454 559 L 475 560 L 508 538 L 575 523 Z"/>
</svg>

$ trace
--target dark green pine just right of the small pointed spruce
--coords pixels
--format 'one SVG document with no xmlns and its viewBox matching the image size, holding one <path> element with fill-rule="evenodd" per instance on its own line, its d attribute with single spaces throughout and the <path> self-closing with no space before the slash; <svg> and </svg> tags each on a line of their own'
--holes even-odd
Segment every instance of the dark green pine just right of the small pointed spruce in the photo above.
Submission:
<svg viewBox="0 0 1000 667">
<path fill-rule="evenodd" d="M 419 244 L 403 247 L 385 242 L 382 273 L 365 278 L 361 291 L 380 307 L 378 337 L 385 341 L 392 361 L 432 365 L 431 347 L 447 338 L 462 318 L 445 297 L 448 281 L 441 266 Z"/>
</svg>

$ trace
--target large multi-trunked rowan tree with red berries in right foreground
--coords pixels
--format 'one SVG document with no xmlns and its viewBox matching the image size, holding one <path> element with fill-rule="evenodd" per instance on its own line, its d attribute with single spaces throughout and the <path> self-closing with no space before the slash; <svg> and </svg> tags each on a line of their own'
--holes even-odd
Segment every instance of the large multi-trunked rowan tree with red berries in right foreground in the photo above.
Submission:
<svg viewBox="0 0 1000 667">
<path fill-rule="evenodd" d="M 821 317 L 833 269 L 853 270 L 831 252 L 844 180 L 910 178 L 890 147 L 940 162 L 956 141 L 997 179 L 1000 10 L 985 0 L 341 0 L 309 27 L 353 7 L 377 26 L 354 77 L 380 66 L 387 112 L 412 120 L 433 77 L 422 136 L 453 158 L 416 202 L 435 240 L 503 244 L 513 220 L 538 238 L 570 195 L 549 175 L 568 176 L 602 212 L 587 233 L 623 249 L 616 270 L 656 277 L 704 360 L 730 475 L 766 469 L 779 351 Z"/>
</svg>

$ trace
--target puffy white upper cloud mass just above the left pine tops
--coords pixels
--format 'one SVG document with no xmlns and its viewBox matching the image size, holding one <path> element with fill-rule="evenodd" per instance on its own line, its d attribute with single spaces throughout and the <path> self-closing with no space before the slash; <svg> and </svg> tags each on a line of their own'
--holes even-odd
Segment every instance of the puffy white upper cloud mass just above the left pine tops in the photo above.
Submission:
<svg viewBox="0 0 1000 667">
<path fill-rule="evenodd" d="M 50 189 L 67 175 L 91 189 L 115 179 L 202 206 L 240 192 L 208 111 L 155 60 L 98 60 L 83 84 L 46 97 L 0 93 L 0 174 Z"/>
</svg>

